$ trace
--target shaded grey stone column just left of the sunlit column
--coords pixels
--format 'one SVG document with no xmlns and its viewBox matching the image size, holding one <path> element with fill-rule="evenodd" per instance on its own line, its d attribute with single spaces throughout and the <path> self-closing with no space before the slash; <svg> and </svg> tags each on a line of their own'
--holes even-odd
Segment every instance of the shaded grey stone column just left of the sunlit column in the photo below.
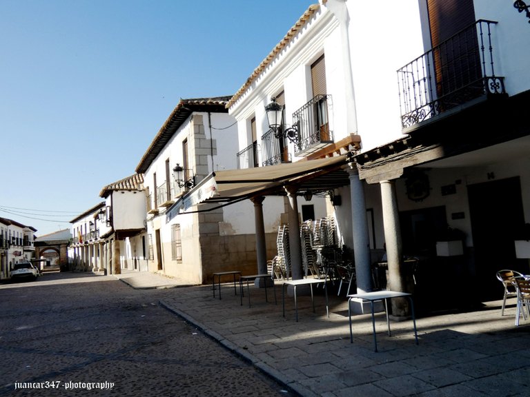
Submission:
<svg viewBox="0 0 530 397">
<path fill-rule="evenodd" d="M 355 257 L 357 293 L 362 293 L 372 290 L 370 239 L 368 223 L 366 222 L 366 201 L 364 199 L 362 181 L 359 179 L 357 170 L 351 167 L 352 165 L 347 171 L 350 176 L 353 254 Z"/>
</svg>

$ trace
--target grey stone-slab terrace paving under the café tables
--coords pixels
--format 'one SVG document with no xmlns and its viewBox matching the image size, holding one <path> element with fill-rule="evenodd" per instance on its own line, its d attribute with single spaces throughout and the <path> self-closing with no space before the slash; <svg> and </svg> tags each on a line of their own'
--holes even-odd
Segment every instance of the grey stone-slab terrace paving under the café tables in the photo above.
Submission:
<svg viewBox="0 0 530 397">
<path fill-rule="evenodd" d="M 293 298 L 286 296 L 282 316 L 281 283 L 275 288 L 277 305 L 254 286 L 250 308 L 248 301 L 241 305 L 239 289 L 219 300 L 211 285 L 172 289 L 161 305 L 301 396 L 528 395 L 530 320 L 515 327 L 515 300 L 504 316 L 502 301 L 495 301 L 472 312 L 417 318 L 419 345 L 410 320 L 391 322 L 388 336 L 384 314 L 376 314 L 374 352 L 369 314 L 352 317 L 350 343 L 344 295 L 330 289 L 329 318 L 322 289 L 314 313 L 311 297 L 300 296 L 296 322 Z"/>
</svg>

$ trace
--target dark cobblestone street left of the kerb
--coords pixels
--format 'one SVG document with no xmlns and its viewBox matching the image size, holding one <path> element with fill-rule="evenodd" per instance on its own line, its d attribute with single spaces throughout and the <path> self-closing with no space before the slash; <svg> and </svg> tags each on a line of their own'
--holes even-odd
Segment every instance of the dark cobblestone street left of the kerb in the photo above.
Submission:
<svg viewBox="0 0 530 397">
<path fill-rule="evenodd" d="M 293 396 L 161 307 L 167 294 L 91 274 L 1 284 L 0 396 Z"/>
</svg>

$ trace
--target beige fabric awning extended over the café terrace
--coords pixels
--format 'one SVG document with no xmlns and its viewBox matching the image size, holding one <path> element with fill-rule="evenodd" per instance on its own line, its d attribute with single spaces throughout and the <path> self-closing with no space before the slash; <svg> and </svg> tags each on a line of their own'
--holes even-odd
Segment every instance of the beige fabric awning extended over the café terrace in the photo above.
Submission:
<svg viewBox="0 0 530 397">
<path fill-rule="evenodd" d="M 324 192 L 349 183 L 342 168 L 349 157 L 297 161 L 242 170 L 216 171 L 206 176 L 166 213 L 166 221 L 200 203 L 230 203 L 253 196 L 285 195 L 284 185 L 299 185 L 300 192 Z"/>
</svg>

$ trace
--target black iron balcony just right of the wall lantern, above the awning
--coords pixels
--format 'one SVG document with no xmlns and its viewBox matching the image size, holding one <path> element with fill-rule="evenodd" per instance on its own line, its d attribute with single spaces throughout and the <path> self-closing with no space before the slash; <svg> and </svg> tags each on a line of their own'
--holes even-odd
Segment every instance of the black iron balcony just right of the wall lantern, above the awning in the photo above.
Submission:
<svg viewBox="0 0 530 397">
<path fill-rule="evenodd" d="M 296 156 L 308 156 L 333 143 L 333 132 L 329 129 L 330 104 L 331 95 L 317 95 L 293 113 Z"/>
</svg>

